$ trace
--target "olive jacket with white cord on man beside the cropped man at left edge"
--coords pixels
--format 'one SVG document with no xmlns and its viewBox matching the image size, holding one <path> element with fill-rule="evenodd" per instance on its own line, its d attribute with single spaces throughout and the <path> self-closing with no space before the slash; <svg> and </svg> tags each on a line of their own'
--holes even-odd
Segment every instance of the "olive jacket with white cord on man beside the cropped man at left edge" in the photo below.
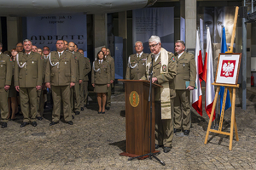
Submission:
<svg viewBox="0 0 256 170">
<path fill-rule="evenodd" d="M 28 56 L 26 53 L 20 52 L 16 56 L 15 64 L 15 86 L 20 88 L 35 88 L 42 86 L 43 77 L 43 60 L 38 53 L 31 52 Z M 22 68 L 20 66 L 24 65 Z"/>
</svg>

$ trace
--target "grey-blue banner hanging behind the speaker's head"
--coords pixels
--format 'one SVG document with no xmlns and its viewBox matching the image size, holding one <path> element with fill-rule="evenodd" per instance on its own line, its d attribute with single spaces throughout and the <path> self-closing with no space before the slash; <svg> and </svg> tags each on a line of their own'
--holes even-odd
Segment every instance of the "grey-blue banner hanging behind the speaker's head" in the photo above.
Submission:
<svg viewBox="0 0 256 170">
<path fill-rule="evenodd" d="M 174 53 L 173 7 L 141 8 L 132 11 L 132 42 L 143 42 L 144 52 L 150 53 L 148 39 L 159 36 L 162 47 Z M 135 53 L 135 50 L 133 51 Z"/>
</svg>

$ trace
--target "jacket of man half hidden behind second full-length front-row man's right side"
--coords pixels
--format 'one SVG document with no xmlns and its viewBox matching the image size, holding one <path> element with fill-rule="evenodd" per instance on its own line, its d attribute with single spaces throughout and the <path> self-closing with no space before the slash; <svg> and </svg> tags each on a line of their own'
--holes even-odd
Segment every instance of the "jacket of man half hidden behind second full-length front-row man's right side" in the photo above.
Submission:
<svg viewBox="0 0 256 170">
<path fill-rule="evenodd" d="M 84 78 L 84 55 L 80 54 L 79 52 L 71 52 L 68 51 L 69 53 L 73 54 L 73 58 L 75 59 L 76 62 L 76 82 L 79 82 L 79 80 L 83 80 Z"/>
</svg>

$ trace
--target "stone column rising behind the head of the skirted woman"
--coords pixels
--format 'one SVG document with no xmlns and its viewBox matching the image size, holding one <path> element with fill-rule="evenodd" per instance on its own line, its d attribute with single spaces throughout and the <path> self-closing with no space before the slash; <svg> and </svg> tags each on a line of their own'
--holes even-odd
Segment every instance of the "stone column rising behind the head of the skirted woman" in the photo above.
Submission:
<svg viewBox="0 0 256 170">
<path fill-rule="evenodd" d="M 95 57 L 103 46 L 108 45 L 107 21 L 107 14 L 94 14 L 93 16 Z"/>
</svg>

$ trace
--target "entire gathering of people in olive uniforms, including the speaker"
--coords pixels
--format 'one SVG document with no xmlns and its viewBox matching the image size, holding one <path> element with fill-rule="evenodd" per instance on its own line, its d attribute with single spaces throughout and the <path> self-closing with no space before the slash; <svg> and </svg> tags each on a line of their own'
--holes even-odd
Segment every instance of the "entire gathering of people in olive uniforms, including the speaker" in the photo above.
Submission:
<svg viewBox="0 0 256 170">
<path fill-rule="evenodd" d="M 50 126 L 60 121 L 61 112 L 64 121 L 73 125 L 74 115 L 84 110 L 87 104 L 88 74 L 91 71 L 90 60 L 84 58 L 82 49 L 77 52 L 73 42 L 67 44 L 67 41 L 58 40 L 55 45 L 56 51 L 49 52 L 48 47 L 40 51 L 26 39 L 23 44 L 17 44 L 18 54 L 12 61 L 9 56 L 1 53 L 3 45 L 0 43 L 0 109 L 3 128 L 7 127 L 9 120 L 7 99 L 11 86 L 20 92 L 20 107 L 24 116 L 20 127 L 29 123 L 36 127 L 36 118 L 42 120 L 45 88 L 51 91 L 53 99 Z M 152 70 L 152 82 L 163 86 L 154 91 L 155 148 L 163 147 L 167 153 L 172 148 L 174 133 L 183 131 L 184 135 L 189 135 L 190 132 L 189 91 L 195 88 L 195 57 L 185 52 L 185 43 L 181 40 L 175 42 L 175 54 L 162 48 L 160 37 L 157 36 L 149 38 L 148 47 L 151 54 L 144 54 L 143 42 L 135 42 L 137 53 L 128 58 L 125 79 L 149 80 L 149 71 Z M 41 54 L 37 53 L 38 50 Z M 106 109 L 110 109 L 114 81 L 114 62 L 108 48 L 102 48 L 97 54 L 91 77 L 97 93 L 98 113 L 105 113 L 106 100 Z M 16 111 L 15 108 L 12 110 Z"/>
</svg>

